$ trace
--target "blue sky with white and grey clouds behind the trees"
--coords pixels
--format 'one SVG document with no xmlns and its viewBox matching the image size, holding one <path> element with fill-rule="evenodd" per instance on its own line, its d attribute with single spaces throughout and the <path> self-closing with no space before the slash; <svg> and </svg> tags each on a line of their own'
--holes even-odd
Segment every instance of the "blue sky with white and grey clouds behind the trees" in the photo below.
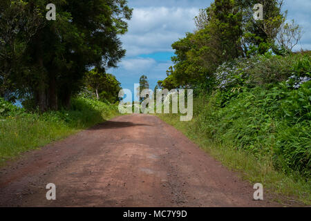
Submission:
<svg viewBox="0 0 311 221">
<path fill-rule="evenodd" d="M 210 3 L 211 0 L 129 0 L 133 17 L 129 32 L 121 37 L 126 57 L 109 73 L 117 77 L 122 88 L 132 91 L 140 76 L 147 75 L 153 89 L 172 65 L 171 44 L 194 30 L 194 17 Z M 295 19 L 305 32 L 296 49 L 311 50 L 311 1 L 285 0 L 284 10 L 288 10 L 288 19 Z"/>
</svg>

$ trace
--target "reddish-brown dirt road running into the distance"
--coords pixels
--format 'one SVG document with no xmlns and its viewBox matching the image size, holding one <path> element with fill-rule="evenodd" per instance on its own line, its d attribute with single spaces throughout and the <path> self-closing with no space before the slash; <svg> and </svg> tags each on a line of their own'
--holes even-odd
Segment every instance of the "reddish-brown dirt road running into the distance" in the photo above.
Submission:
<svg viewBox="0 0 311 221">
<path fill-rule="evenodd" d="M 57 200 L 46 200 L 46 184 Z M 126 115 L 0 169 L 0 206 L 279 206 L 172 126 Z"/>
</svg>

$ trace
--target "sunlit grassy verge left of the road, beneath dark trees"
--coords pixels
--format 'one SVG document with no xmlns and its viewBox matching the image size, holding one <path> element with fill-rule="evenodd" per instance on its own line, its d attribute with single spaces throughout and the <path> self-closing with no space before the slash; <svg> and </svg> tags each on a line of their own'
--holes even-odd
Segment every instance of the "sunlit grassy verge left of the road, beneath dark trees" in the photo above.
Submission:
<svg viewBox="0 0 311 221">
<path fill-rule="evenodd" d="M 69 111 L 50 111 L 44 114 L 24 112 L 2 116 L 0 166 L 23 152 L 62 140 L 117 115 L 117 106 L 113 104 L 76 98 Z"/>
</svg>

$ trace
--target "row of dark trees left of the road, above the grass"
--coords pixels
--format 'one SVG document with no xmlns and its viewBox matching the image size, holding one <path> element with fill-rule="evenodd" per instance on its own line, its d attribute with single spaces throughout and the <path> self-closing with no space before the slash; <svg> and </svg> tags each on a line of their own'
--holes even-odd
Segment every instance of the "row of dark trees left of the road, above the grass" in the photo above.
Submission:
<svg viewBox="0 0 311 221">
<path fill-rule="evenodd" d="M 1 0 L 0 97 L 44 112 L 68 107 L 86 86 L 113 101 L 120 83 L 105 70 L 125 55 L 118 36 L 131 19 L 127 1 L 55 0 L 55 21 L 46 19 L 48 3 Z"/>
</svg>

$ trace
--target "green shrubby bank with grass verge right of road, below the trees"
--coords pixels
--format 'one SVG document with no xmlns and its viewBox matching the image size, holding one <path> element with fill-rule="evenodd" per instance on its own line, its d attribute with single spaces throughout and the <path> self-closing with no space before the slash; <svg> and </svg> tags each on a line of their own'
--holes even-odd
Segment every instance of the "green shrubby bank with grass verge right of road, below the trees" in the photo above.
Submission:
<svg viewBox="0 0 311 221">
<path fill-rule="evenodd" d="M 162 119 L 249 180 L 310 204 L 310 70 L 310 55 L 226 62 L 214 73 L 211 93 L 196 90 L 192 122 Z M 256 163 L 243 168 L 246 162 Z"/>
</svg>

